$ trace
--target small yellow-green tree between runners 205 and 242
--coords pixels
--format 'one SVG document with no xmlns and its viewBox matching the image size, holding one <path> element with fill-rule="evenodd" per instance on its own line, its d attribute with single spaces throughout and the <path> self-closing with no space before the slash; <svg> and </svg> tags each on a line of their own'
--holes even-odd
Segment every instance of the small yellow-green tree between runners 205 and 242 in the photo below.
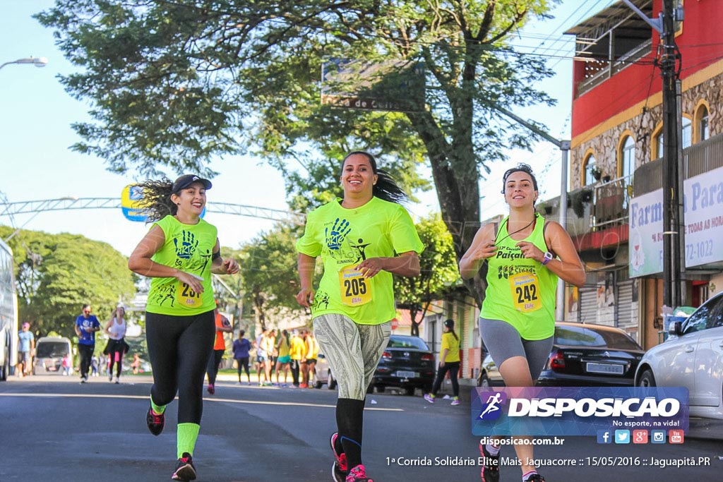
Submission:
<svg viewBox="0 0 723 482">
<path fill-rule="evenodd" d="M 443 297 L 460 277 L 452 235 L 440 215 L 432 215 L 415 226 L 424 244 L 419 255 L 421 272 L 415 277 L 395 276 L 394 294 L 397 306 L 409 310 L 411 335 L 419 336 L 419 325 L 429 304 Z"/>
</svg>

